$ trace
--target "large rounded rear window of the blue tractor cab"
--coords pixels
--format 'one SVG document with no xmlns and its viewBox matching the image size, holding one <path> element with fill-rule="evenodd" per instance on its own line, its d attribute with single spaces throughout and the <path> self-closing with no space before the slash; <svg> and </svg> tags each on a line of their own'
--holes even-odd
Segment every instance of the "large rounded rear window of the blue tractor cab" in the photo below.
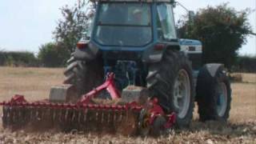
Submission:
<svg viewBox="0 0 256 144">
<path fill-rule="evenodd" d="M 148 3 L 102 3 L 94 40 L 103 46 L 145 46 L 152 41 Z"/>
</svg>

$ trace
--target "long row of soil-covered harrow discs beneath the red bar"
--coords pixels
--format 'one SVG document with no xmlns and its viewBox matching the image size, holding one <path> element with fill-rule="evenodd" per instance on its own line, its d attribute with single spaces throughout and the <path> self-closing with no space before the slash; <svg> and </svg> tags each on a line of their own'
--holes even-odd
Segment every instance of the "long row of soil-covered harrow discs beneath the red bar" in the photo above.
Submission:
<svg viewBox="0 0 256 144">
<path fill-rule="evenodd" d="M 139 109 L 138 109 L 139 110 Z M 72 130 L 135 134 L 138 110 L 109 105 L 50 105 L 23 103 L 3 106 L 2 125 L 10 130 Z"/>
</svg>

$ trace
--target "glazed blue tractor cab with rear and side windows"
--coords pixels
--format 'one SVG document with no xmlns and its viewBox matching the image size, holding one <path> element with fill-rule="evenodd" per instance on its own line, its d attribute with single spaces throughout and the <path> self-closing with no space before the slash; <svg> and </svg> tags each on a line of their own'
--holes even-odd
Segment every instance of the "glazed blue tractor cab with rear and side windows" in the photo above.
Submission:
<svg viewBox="0 0 256 144">
<path fill-rule="evenodd" d="M 94 2 L 91 41 L 101 50 L 146 50 L 158 42 L 178 41 L 171 1 Z"/>
</svg>

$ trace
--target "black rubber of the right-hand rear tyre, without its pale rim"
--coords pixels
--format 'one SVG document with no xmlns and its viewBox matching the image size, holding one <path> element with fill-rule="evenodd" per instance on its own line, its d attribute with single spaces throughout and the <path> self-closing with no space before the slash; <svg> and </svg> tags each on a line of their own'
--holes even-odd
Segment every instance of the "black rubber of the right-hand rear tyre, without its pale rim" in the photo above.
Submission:
<svg viewBox="0 0 256 144">
<path fill-rule="evenodd" d="M 173 104 L 174 80 L 178 70 L 185 69 L 190 76 L 190 108 L 185 118 L 177 119 L 178 127 L 187 127 L 193 117 L 194 110 L 194 82 L 190 62 L 183 52 L 178 50 L 166 50 L 162 61 L 149 66 L 149 74 L 146 78 L 147 87 L 151 97 L 157 97 L 159 104 L 167 112 L 177 111 Z"/>
</svg>

